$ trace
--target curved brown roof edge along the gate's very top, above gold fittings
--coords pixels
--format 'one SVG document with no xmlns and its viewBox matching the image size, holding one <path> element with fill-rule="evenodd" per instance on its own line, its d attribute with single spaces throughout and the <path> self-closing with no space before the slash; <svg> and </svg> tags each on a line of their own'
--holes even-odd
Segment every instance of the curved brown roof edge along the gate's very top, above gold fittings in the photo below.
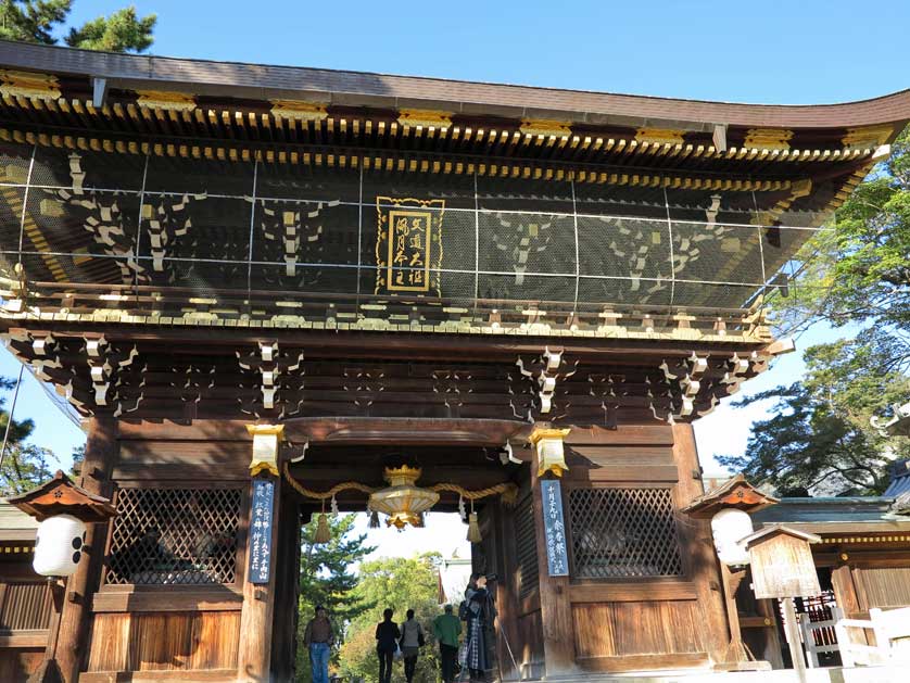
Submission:
<svg viewBox="0 0 910 683">
<path fill-rule="evenodd" d="M 109 88 L 189 90 L 204 96 L 262 100 L 292 98 L 346 106 L 433 109 L 592 125 L 677 125 L 691 130 L 711 130 L 713 124 L 847 128 L 910 118 L 910 89 L 838 104 L 743 104 L 369 72 L 114 54 L 10 41 L 0 41 L 0 64 L 15 69 L 104 78 Z"/>
</svg>

